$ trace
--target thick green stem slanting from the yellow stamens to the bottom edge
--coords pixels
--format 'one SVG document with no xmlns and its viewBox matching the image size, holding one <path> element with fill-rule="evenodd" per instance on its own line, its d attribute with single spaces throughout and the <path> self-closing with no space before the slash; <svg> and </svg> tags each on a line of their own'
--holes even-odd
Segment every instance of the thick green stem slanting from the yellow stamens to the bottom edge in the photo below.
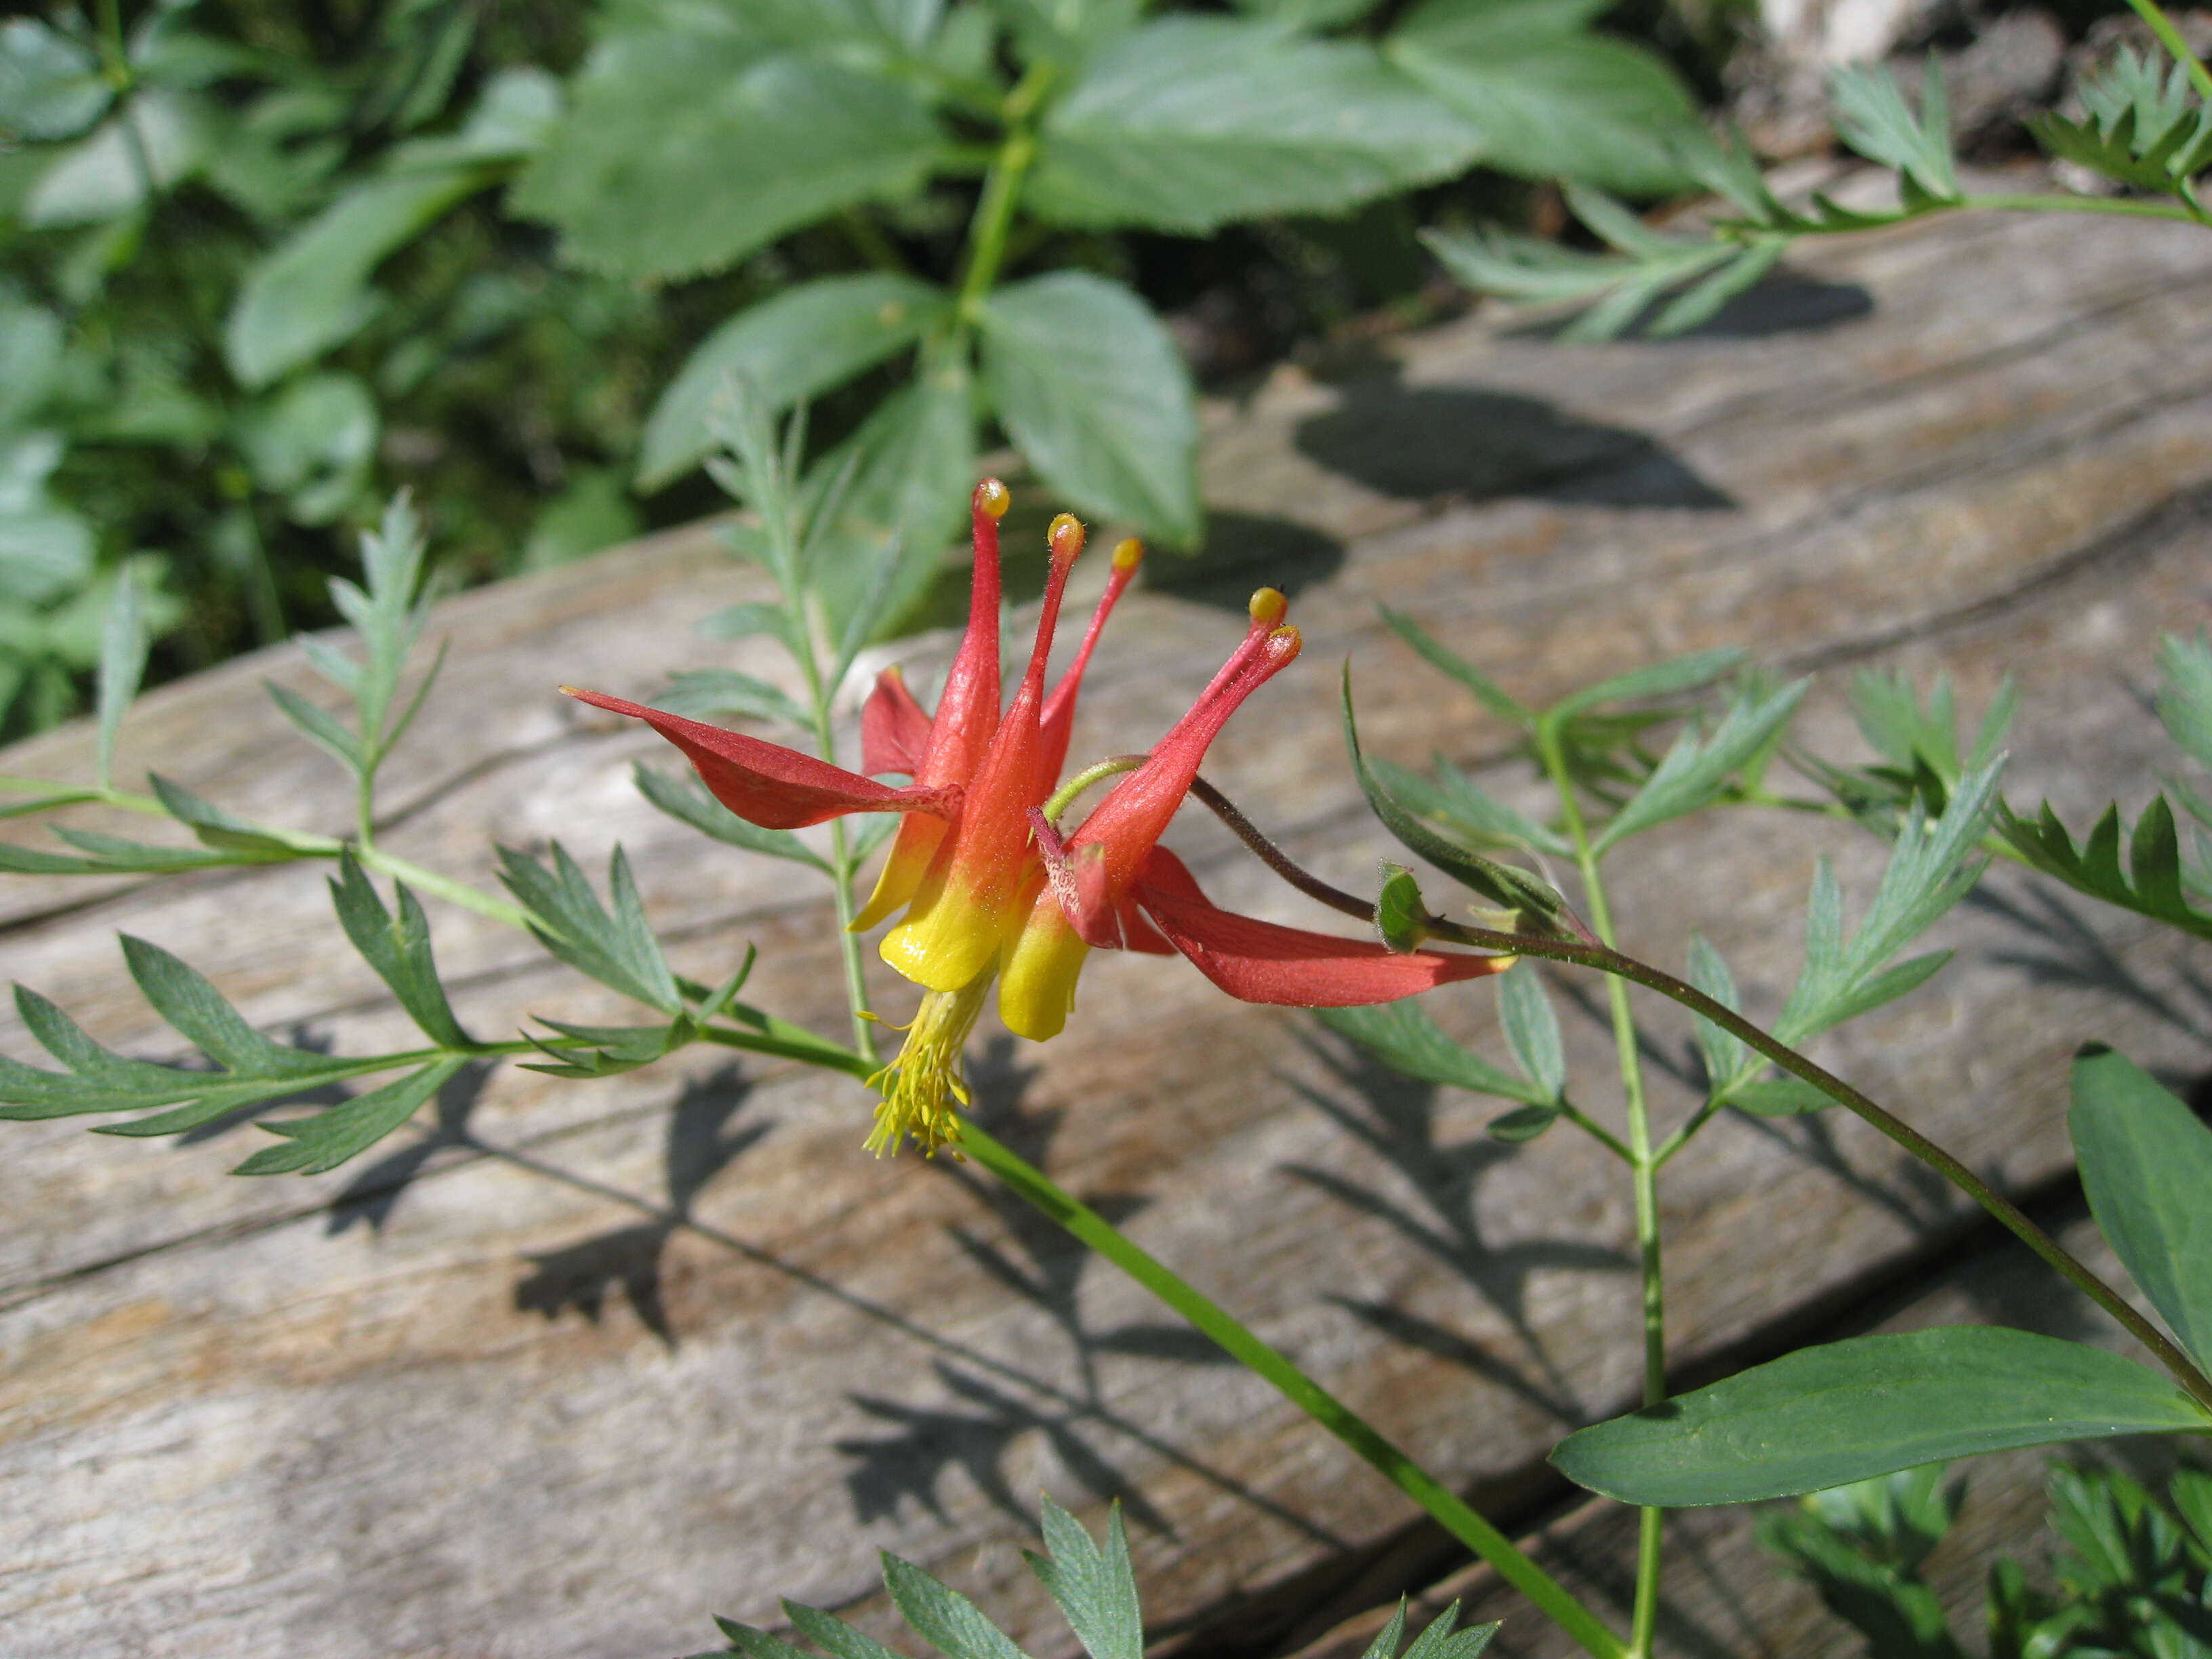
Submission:
<svg viewBox="0 0 2212 1659">
<path fill-rule="evenodd" d="M 1502 1579 L 1542 1608 L 1553 1624 L 1579 1641 L 1586 1652 L 1597 1659 L 1628 1659 L 1628 1648 L 1621 1646 L 1621 1639 L 1606 1630 L 1606 1626 L 1599 1624 L 1599 1619 L 1582 1606 L 1582 1601 L 1577 1601 L 1564 1584 L 1528 1559 L 1528 1555 L 1522 1553 L 1511 1537 L 1491 1526 L 1480 1513 L 1460 1500 L 1458 1493 L 1438 1482 L 1436 1475 L 1385 1440 L 1383 1433 L 1360 1418 L 1349 1405 L 1314 1383 L 1314 1378 L 1292 1365 L 1283 1354 L 1254 1336 L 1243 1323 L 1206 1298 L 1155 1256 L 1139 1250 L 1119 1228 L 1106 1221 L 1106 1217 L 1086 1203 L 1079 1203 L 1075 1197 L 1057 1188 L 1042 1170 L 1015 1157 L 973 1124 L 962 1124 L 960 1150 L 975 1159 L 982 1168 L 991 1170 L 991 1175 L 1004 1181 L 1011 1192 L 1033 1203 L 1042 1214 L 1057 1221 L 1084 1245 L 1159 1296 L 1170 1310 L 1212 1338 L 1239 1365 L 1272 1383 L 1285 1400 L 1296 1405 L 1314 1418 L 1314 1422 L 1352 1447 L 1352 1451 L 1378 1469 L 1398 1491 L 1429 1511 L 1429 1515 L 1433 1515 L 1444 1531 L 1498 1568 Z"/>
</svg>

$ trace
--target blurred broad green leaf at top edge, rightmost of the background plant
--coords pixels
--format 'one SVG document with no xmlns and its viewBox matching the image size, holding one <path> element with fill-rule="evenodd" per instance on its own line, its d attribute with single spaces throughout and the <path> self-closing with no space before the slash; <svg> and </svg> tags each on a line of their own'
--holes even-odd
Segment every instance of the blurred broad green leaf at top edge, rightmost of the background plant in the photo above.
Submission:
<svg viewBox="0 0 2212 1659">
<path fill-rule="evenodd" d="M 1657 55 L 1586 33 L 1586 7 L 1427 0 L 1383 51 L 1464 122 L 1482 161 L 1531 179 L 1679 190 L 1666 133 L 1697 100 Z"/>
</svg>

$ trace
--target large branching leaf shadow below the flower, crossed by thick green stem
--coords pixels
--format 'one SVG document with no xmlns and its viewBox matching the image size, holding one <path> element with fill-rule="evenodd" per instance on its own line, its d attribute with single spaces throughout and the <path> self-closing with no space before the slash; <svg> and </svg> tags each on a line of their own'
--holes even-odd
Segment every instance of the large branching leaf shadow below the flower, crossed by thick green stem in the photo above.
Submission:
<svg viewBox="0 0 2212 1659">
<path fill-rule="evenodd" d="M 971 1115 L 1020 1157 L 1042 1164 L 1060 1133 L 1064 1113 L 1055 1108 L 1024 1110 L 1022 1095 L 1035 1077 L 1033 1066 L 1015 1064 L 1015 1042 L 993 1037 L 982 1055 L 969 1062 Z M 1212 1486 L 1248 1502 L 1254 1511 L 1294 1526 L 1298 1533 L 1343 1548 L 1327 1531 L 1296 1515 L 1263 1493 L 1223 1475 L 1190 1453 L 1159 1442 L 1126 1422 L 1110 1405 L 1108 1380 L 1099 1371 L 1104 1356 L 1168 1360 L 1177 1365 L 1228 1365 L 1210 1340 L 1179 1323 L 1141 1321 L 1110 1329 L 1093 1329 L 1082 1310 L 1082 1283 L 1095 1256 L 1055 1221 L 1042 1217 L 1024 1199 L 998 1181 L 951 1159 L 929 1166 L 933 1175 L 956 1183 L 989 1219 L 991 1228 L 951 1225 L 960 1252 L 991 1281 L 1044 1314 L 1057 1329 L 1064 1358 L 1040 1363 L 1029 1354 L 1022 1371 L 995 1365 L 1000 1380 L 1018 1380 L 1022 1394 L 1000 1387 L 973 1367 L 938 1360 L 938 1387 L 951 1396 L 945 1405 L 911 1405 L 874 1394 L 852 1396 L 854 1405 L 883 1425 L 880 1436 L 838 1440 L 836 1449 L 854 1458 L 847 1473 L 856 1520 L 894 1517 L 911 1500 L 938 1520 L 947 1520 L 940 1484 L 951 1471 L 969 1478 L 978 1493 L 1024 1528 L 1035 1515 L 1015 1495 L 1009 1464 L 1024 1444 L 1042 1438 L 1062 1469 L 1099 1502 L 1119 1498 L 1133 1522 L 1175 1537 L 1172 1522 L 1155 1509 L 1102 1449 L 1099 1431 L 1126 1438 L 1155 1458 L 1166 1458 L 1197 1473 Z M 1121 1223 L 1144 1208 L 1135 1194 L 1086 1194 L 1084 1201 L 1106 1219 Z M 1053 1371 L 1071 1374 L 1068 1383 Z"/>
</svg>

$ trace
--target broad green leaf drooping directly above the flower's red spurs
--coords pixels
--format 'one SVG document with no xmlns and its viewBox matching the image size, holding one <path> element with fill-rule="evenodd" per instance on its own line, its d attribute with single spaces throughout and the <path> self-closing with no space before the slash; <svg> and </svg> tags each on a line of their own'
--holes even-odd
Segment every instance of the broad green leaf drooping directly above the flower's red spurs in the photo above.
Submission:
<svg viewBox="0 0 2212 1659">
<path fill-rule="evenodd" d="M 1075 270 L 991 292 L 982 387 L 1029 465 L 1079 511 L 1197 544 L 1197 392 L 1137 294 Z"/>
</svg>

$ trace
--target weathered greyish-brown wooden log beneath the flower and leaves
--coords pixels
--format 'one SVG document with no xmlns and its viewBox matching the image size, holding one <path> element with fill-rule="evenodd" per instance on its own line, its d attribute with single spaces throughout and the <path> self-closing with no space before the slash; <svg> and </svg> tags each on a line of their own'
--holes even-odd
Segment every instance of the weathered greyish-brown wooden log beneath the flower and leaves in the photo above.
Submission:
<svg viewBox="0 0 2212 1659">
<path fill-rule="evenodd" d="M 1389 845 L 1345 776 L 1329 664 L 1356 655 L 1385 752 L 1482 761 L 1500 741 L 1383 644 L 1385 599 L 1531 695 L 1739 639 L 1785 661 L 1947 664 L 1966 708 L 2015 670 L 2015 787 L 2059 790 L 2077 814 L 2139 796 L 2159 748 L 2130 688 L 2157 628 L 2201 615 L 2212 487 L 2212 257 L 2170 230 L 1924 226 L 1818 254 L 1825 279 L 1876 296 L 1834 330 L 1568 352 L 1453 325 L 1396 343 L 1402 369 L 1380 383 L 1283 376 L 1250 409 L 1212 411 L 1214 500 L 1303 526 L 1241 533 L 1287 544 L 1314 659 L 1232 726 L 1212 770 L 1301 858 L 1365 883 Z M 1467 425 L 1486 442 L 1533 427 L 1544 447 L 1500 471 Z M 1458 447 L 1398 456 L 1438 429 Z M 1559 451 L 1579 469 L 1546 469 Z M 1230 566 L 1139 595 L 1077 752 L 1126 750 L 1179 712 L 1239 633 L 1214 602 L 1279 573 Z M 619 836 L 690 971 L 752 938 L 761 998 L 838 1029 L 825 909 L 657 821 L 624 781 L 653 741 L 542 690 L 637 692 L 732 659 L 774 672 L 686 633 L 748 593 L 679 538 L 449 604 L 453 681 L 411 750 L 427 805 L 387 845 L 482 878 L 487 836 L 560 834 L 582 856 Z M 343 825 L 334 770 L 281 741 L 259 672 L 299 664 L 276 653 L 148 699 L 126 765 L 159 757 L 246 810 Z M 1807 717 L 1823 750 L 1849 745 L 1836 690 Z M 60 770 L 71 743 L 24 745 L 7 770 Z M 1179 836 L 1225 902 L 1305 916 L 1219 832 Z M 1840 830 L 1745 814 L 1655 836 L 1619 872 L 1630 949 L 1674 956 L 1694 920 L 1772 1011 L 1816 845 L 1863 896 L 1878 849 Z M 398 1031 L 330 947 L 316 872 L 66 914 L 84 887 L 13 891 L 11 975 L 106 1040 L 164 1042 L 117 973 L 117 927 L 179 949 L 270 1026 L 345 1048 Z M 2064 1166 L 2073 1042 L 2190 1062 L 2203 1011 L 2150 929 L 2053 931 L 2022 885 L 1991 891 L 2013 911 L 1947 927 L 1960 967 L 1825 1055 L 2033 1183 Z M 608 1006 L 491 925 L 440 907 L 436 927 L 487 1031 Z M 2117 975 L 2168 1011 L 2115 995 Z M 887 1009 L 911 1002 L 883 989 Z M 1493 1040 L 1489 993 L 1440 1002 L 1458 1033 Z M 1575 1064 L 1604 1077 L 1601 1029 L 1568 1024 Z M 1683 1026 L 1655 1013 L 1652 1031 L 1679 1051 Z M 29 1053 L 13 1026 L 0 1042 Z M 1630 1396 L 1628 1206 L 1601 1155 L 1484 1141 L 1491 1108 L 1376 1077 L 1179 964 L 1095 962 L 1064 1040 L 987 1053 L 1002 1133 L 1130 1208 L 1150 1248 L 1489 1498 L 1528 1491 L 1564 1422 Z M 1661 1110 L 1681 1108 L 1666 1091 Z M 1040 1484 L 1093 1509 L 1141 1493 L 1148 1604 L 1188 1621 L 1405 1522 L 1301 1418 L 984 1188 L 860 1159 L 849 1086 L 686 1055 L 595 1086 L 498 1073 L 447 1117 L 465 1135 L 319 1181 L 221 1179 L 259 1139 L 243 1128 L 170 1150 L 9 1126 L 0 1201 L 40 1217 L 0 1241 L 0 1473 L 35 1540 L 0 1610 L 27 1639 L 677 1650 L 706 1639 L 710 1608 L 763 1619 L 779 1593 L 863 1597 L 878 1544 L 953 1573 L 1018 1635 L 1051 1630 L 1015 1553 Z M 1666 1203 L 1686 1358 L 1909 1261 L 1958 1214 L 1849 1124 L 1717 1126 L 1670 1166 Z"/>
</svg>

